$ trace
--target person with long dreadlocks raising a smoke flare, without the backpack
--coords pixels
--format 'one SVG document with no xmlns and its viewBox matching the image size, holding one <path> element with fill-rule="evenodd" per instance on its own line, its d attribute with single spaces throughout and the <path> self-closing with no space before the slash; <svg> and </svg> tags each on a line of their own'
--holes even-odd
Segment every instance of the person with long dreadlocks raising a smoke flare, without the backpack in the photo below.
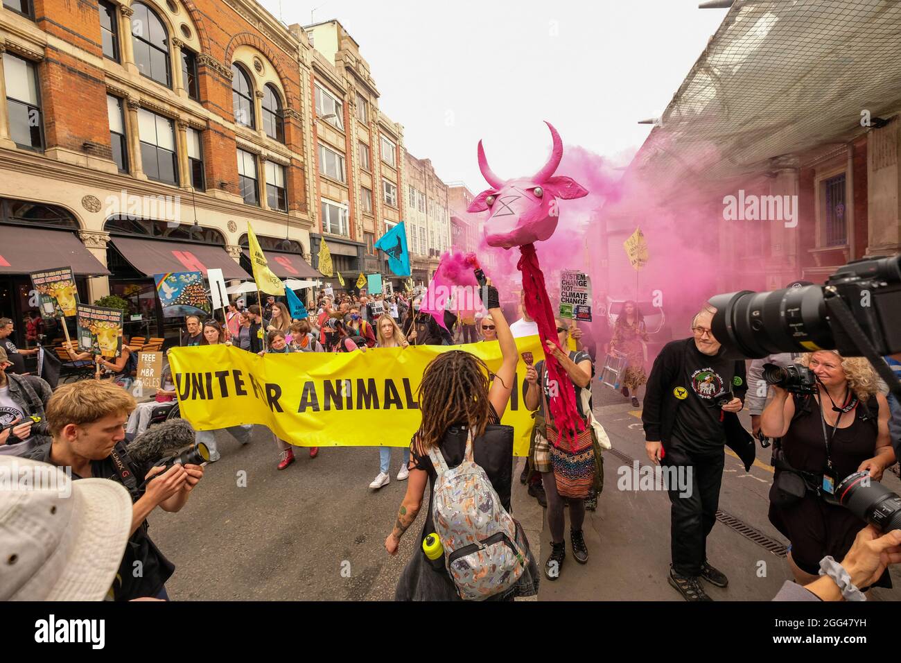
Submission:
<svg viewBox="0 0 901 663">
<path fill-rule="evenodd" d="M 489 447 L 494 444 L 497 448 L 497 443 L 501 441 L 499 438 L 509 436 L 511 433 L 508 427 L 498 424 L 516 382 L 518 361 L 516 343 L 501 312 L 497 290 L 492 286 L 487 286 L 483 290 L 487 290 L 486 308 L 495 319 L 503 363 L 490 386 L 486 364 L 474 355 L 461 350 L 441 353 L 426 366 L 418 391 L 419 410 L 423 413 L 423 420 L 410 444 L 411 459 L 406 495 L 397 512 L 395 526 L 385 539 L 385 548 L 389 555 L 396 555 L 400 538 L 413 524 L 422 508 L 426 482 L 430 484 L 429 504 L 435 503 L 434 487 L 438 474 L 432 465 L 429 451 L 433 449 L 440 453 L 449 467 L 460 465 L 466 454 L 467 440 L 471 431 L 474 456 L 478 462 L 480 447 L 485 449 L 485 456 L 488 456 Z M 501 504 L 508 512 L 512 463 L 511 452 L 497 463 L 498 467 L 482 465 Z M 505 478 L 502 478 L 504 476 Z M 395 591 L 397 601 L 460 600 L 446 567 L 435 568 L 426 561 L 422 543 L 434 531 L 430 507 L 422 534 L 416 539 L 416 548 L 419 549 L 405 567 L 397 584 Z M 503 594 L 492 596 L 491 600 L 512 601 L 517 595 L 537 594 L 537 566 L 529 550 L 528 539 L 525 538 L 518 522 L 515 539 L 527 557 L 528 563 L 523 570 L 523 576 L 516 585 Z"/>
</svg>

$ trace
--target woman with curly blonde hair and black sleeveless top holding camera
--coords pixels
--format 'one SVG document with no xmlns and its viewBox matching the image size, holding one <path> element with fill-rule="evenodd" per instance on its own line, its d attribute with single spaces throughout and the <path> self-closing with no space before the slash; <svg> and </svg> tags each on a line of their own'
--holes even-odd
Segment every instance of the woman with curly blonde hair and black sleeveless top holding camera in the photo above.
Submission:
<svg viewBox="0 0 901 663">
<path fill-rule="evenodd" d="M 769 492 L 769 521 L 791 541 L 788 564 L 800 585 L 819 576 L 825 556 L 842 559 L 862 527 L 839 505 L 835 486 L 849 474 L 879 480 L 895 463 L 888 436 L 888 404 L 876 373 L 862 357 L 831 350 L 804 355 L 815 377 L 813 393 L 798 380 L 773 384 L 774 398 L 760 418 L 774 447 L 776 466 Z M 784 388 L 786 387 L 786 388 Z M 890 587 L 887 574 L 874 583 Z"/>
</svg>

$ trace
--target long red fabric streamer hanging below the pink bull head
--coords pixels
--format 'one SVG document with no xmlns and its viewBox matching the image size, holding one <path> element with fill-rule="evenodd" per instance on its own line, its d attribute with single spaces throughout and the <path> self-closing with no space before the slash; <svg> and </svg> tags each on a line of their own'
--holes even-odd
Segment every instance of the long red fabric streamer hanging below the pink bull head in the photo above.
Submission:
<svg viewBox="0 0 901 663">
<path fill-rule="evenodd" d="M 538 336 L 542 339 L 542 348 L 547 348 L 548 341 L 559 347 L 554 311 L 551 307 L 551 299 L 548 299 L 542 268 L 538 264 L 535 244 L 523 244 L 519 250 L 522 256 L 516 266 L 523 273 L 525 311 L 538 325 Z M 563 352 L 569 352 L 566 348 L 561 349 Z M 560 435 L 569 441 L 570 448 L 575 450 L 576 433 L 585 429 L 585 423 L 578 416 L 576 408 L 576 387 L 569 379 L 569 373 L 560 366 L 550 352 L 545 352 L 544 365 L 548 369 L 548 380 L 556 380 L 560 385 L 558 395 L 553 396 L 549 403 L 554 424 L 560 431 Z"/>
</svg>

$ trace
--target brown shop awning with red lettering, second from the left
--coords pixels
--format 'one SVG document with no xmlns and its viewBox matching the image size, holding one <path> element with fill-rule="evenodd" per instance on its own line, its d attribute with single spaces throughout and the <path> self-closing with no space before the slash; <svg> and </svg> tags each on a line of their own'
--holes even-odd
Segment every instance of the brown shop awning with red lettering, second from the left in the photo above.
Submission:
<svg viewBox="0 0 901 663">
<path fill-rule="evenodd" d="M 113 244 L 132 267 L 147 276 L 166 272 L 203 272 L 220 269 L 226 281 L 250 278 L 222 246 L 186 244 L 137 237 L 113 237 Z"/>
</svg>

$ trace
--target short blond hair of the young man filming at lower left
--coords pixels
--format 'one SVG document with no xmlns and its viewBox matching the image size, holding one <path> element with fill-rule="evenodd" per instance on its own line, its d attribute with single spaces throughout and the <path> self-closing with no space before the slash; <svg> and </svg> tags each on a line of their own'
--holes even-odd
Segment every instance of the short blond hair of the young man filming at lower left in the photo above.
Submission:
<svg viewBox="0 0 901 663">
<path fill-rule="evenodd" d="M 132 394 L 108 380 L 83 380 L 64 384 L 53 392 L 47 403 L 50 435 L 75 424 L 82 426 L 111 414 L 129 415 L 137 406 Z"/>
</svg>

